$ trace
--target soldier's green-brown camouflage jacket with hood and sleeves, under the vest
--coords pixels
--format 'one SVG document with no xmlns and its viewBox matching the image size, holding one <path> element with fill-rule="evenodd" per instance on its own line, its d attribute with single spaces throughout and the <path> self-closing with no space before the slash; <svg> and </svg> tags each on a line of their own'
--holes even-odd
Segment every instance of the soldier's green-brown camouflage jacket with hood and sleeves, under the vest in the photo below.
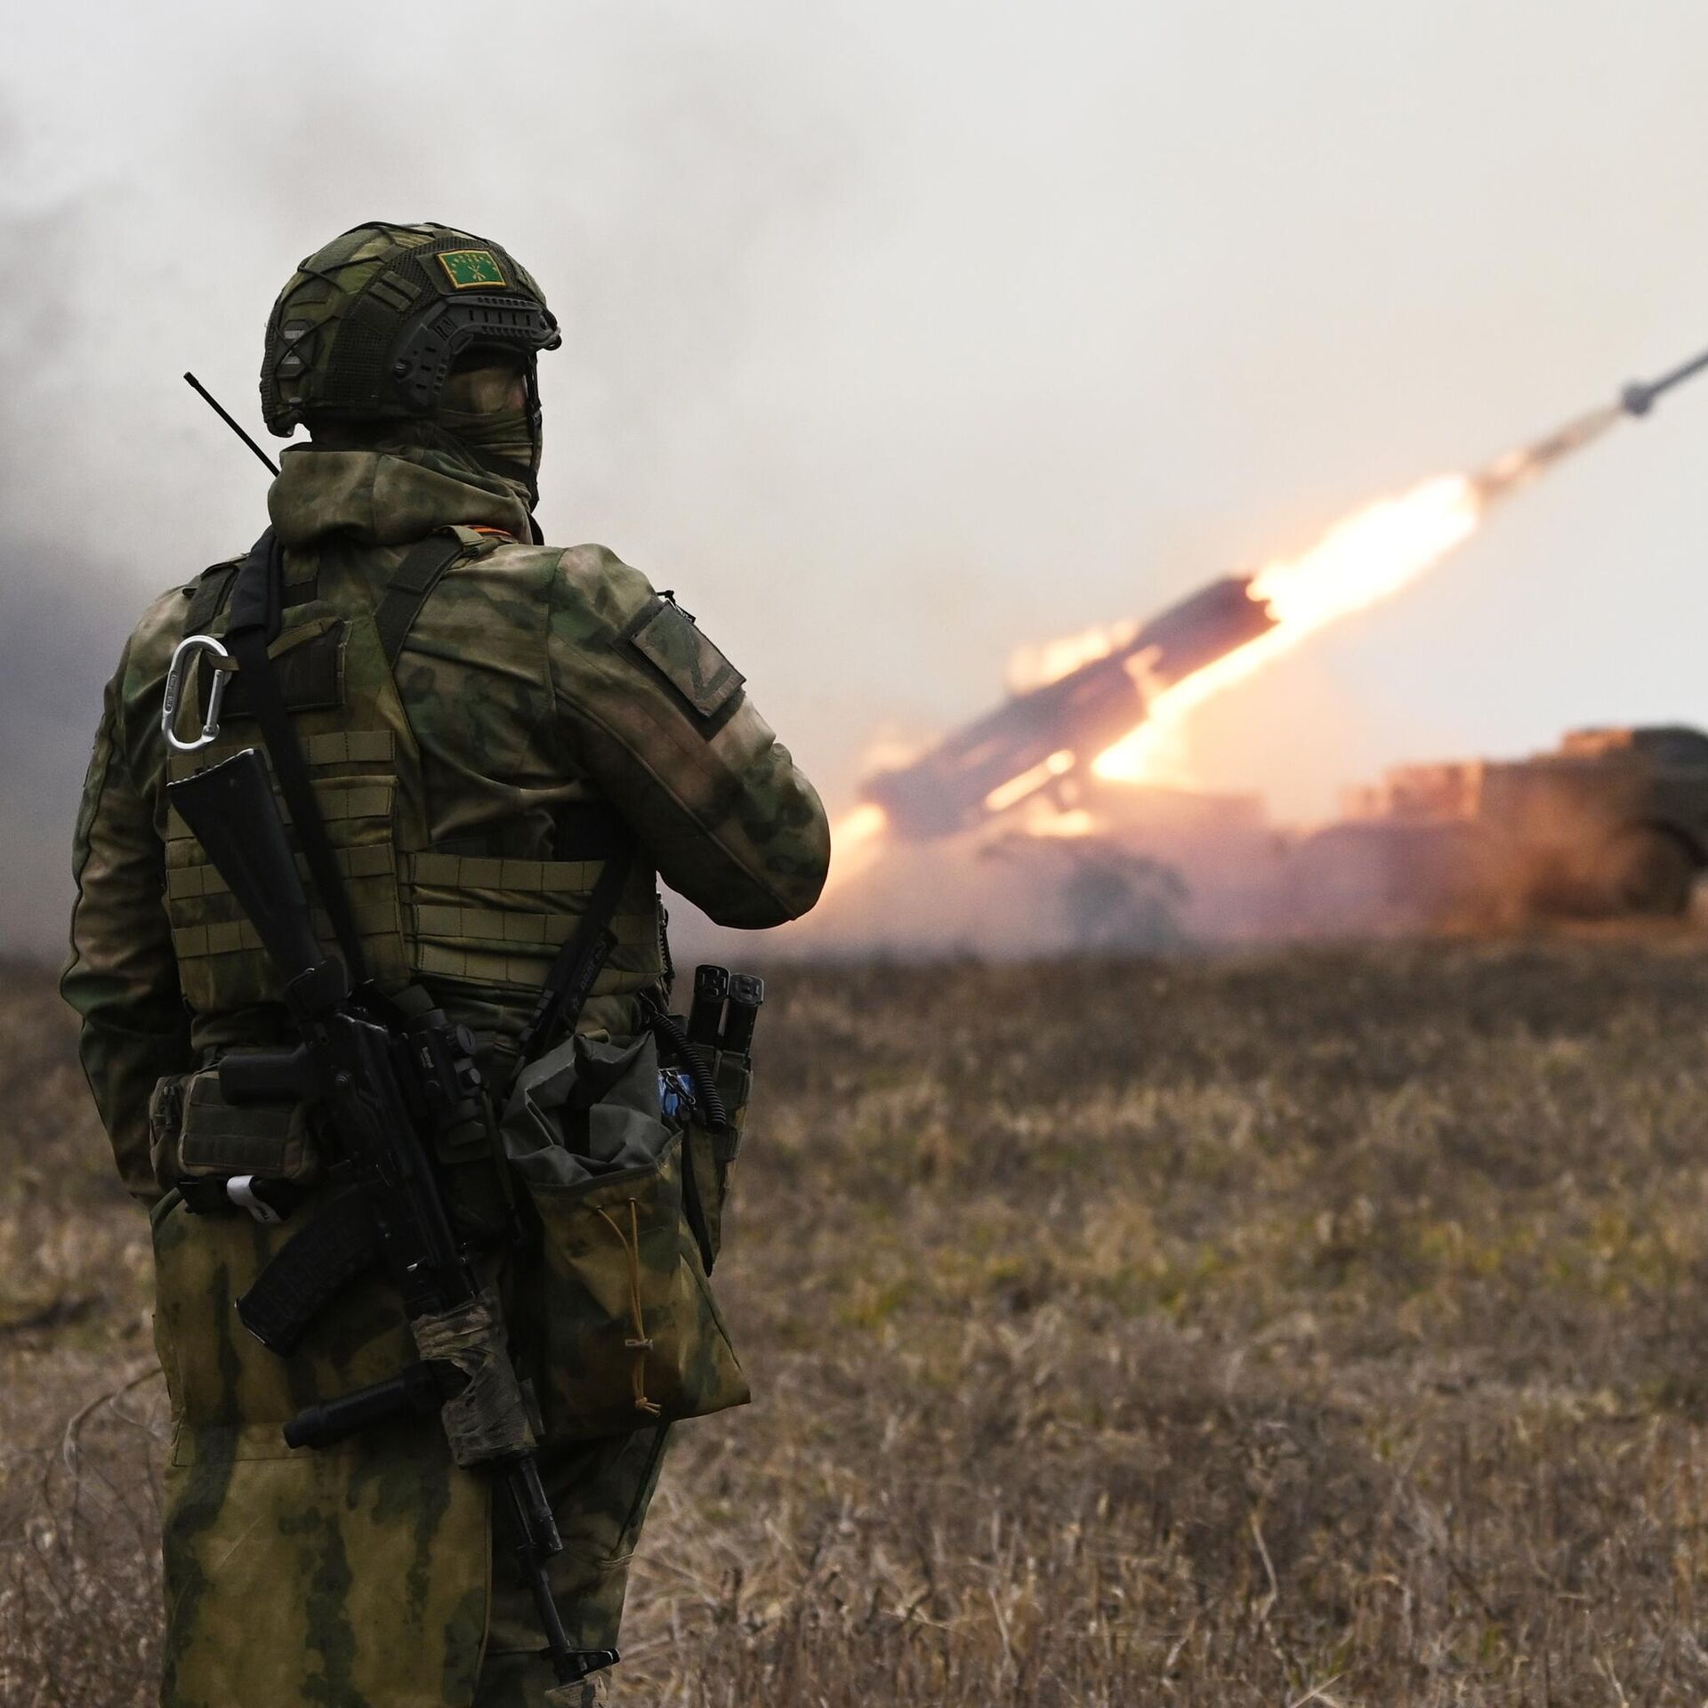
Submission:
<svg viewBox="0 0 1708 1708">
<path fill-rule="evenodd" d="M 528 533 L 509 485 L 418 447 L 285 451 L 268 502 L 287 548 L 287 603 L 290 584 L 318 577 L 331 606 L 371 605 L 403 552 L 434 529 Z M 277 1028 L 249 1003 L 220 1001 L 217 980 L 212 999 L 186 1006 L 179 958 L 195 927 L 162 907 L 171 825 L 159 714 L 195 593 L 162 594 L 123 651 L 75 835 L 63 991 L 82 1015 L 82 1062 L 120 1172 L 143 1199 L 159 1192 L 149 1170 L 154 1083 L 210 1045 L 265 1042 Z M 709 721 L 688 699 L 700 661 L 673 680 L 668 656 L 623 644 L 656 603 L 646 577 L 603 547 L 500 543 L 439 582 L 395 671 L 418 748 L 417 835 L 427 845 L 488 864 L 550 861 L 565 811 L 588 803 L 615 808 L 635 834 L 647 869 L 630 880 L 632 929 L 594 989 L 591 1027 L 620 1028 L 617 997 L 661 968 L 658 927 L 639 924 L 654 912 L 652 869 L 719 924 L 760 927 L 810 909 L 828 864 L 818 796 L 752 700 L 736 692 Z M 492 900 L 502 910 L 504 893 Z M 466 951 L 456 977 L 436 979 L 449 963 L 415 938 L 412 951 L 408 970 L 453 1018 L 487 1040 L 514 1035 L 531 1006 L 526 980 Z"/>
</svg>

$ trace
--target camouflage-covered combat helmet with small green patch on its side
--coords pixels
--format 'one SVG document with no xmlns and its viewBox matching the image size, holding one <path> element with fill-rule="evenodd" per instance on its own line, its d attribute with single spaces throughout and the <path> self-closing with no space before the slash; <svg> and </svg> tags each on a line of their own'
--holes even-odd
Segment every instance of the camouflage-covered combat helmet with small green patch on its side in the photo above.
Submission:
<svg viewBox="0 0 1708 1708">
<path fill-rule="evenodd" d="M 354 225 L 299 263 L 266 323 L 261 415 L 280 439 L 326 422 L 430 417 L 456 357 L 562 343 L 533 275 L 453 225 Z"/>
</svg>

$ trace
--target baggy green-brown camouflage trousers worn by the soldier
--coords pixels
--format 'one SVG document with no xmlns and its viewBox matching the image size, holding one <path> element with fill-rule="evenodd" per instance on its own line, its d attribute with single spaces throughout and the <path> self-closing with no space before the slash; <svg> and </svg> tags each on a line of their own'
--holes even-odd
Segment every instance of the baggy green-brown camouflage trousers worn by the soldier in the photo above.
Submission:
<svg viewBox="0 0 1708 1708">
<path fill-rule="evenodd" d="M 164 1708 L 523 1708 L 552 1688 L 487 1477 L 437 1418 L 290 1452 L 302 1406 L 413 1356 L 395 1298 L 354 1283 L 313 1346 L 275 1358 L 232 1312 L 289 1228 L 155 1208 L 155 1344 L 173 1397 L 162 1558 Z M 547 1448 L 572 1643 L 615 1648 L 629 1556 L 668 1430 Z"/>
</svg>

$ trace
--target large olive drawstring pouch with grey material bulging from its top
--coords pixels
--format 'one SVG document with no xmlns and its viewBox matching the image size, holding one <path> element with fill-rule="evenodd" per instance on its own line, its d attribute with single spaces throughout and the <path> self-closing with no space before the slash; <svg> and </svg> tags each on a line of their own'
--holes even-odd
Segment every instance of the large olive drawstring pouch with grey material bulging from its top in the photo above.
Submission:
<svg viewBox="0 0 1708 1708">
<path fill-rule="evenodd" d="M 685 1132 L 663 1115 L 652 1035 L 565 1038 L 521 1071 L 500 1131 L 536 1223 L 511 1327 L 547 1440 L 746 1404 L 688 1221 Z"/>
</svg>

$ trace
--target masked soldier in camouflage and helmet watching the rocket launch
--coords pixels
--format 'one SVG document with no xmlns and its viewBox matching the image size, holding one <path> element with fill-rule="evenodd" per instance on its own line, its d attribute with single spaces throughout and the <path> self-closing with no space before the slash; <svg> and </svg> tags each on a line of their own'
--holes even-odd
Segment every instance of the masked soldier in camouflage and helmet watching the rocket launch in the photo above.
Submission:
<svg viewBox="0 0 1708 1708">
<path fill-rule="evenodd" d="M 499 1095 L 608 861 L 629 857 L 629 876 L 579 1032 L 623 1044 L 649 997 L 668 1006 L 654 873 L 721 924 L 763 927 L 813 905 L 830 852 L 811 784 L 671 594 L 603 547 L 540 543 L 535 364 L 559 342 L 499 244 L 372 222 L 301 265 L 261 366 L 266 425 L 311 434 L 268 495 L 284 548 L 270 651 L 348 924 L 381 989 L 425 987 L 473 1032 Z M 436 1423 L 328 1452 L 282 1443 L 285 1418 L 408 1356 L 396 1296 L 354 1283 L 289 1358 L 232 1310 L 321 1192 L 304 1110 L 231 1107 L 210 1071 L 290 1030 L 254 931 L 166 798 L 188 769 L 256 745 L 241 671 L 210 753 L 169 753 L 161 731 L 173 651 L 222 632 L 234 574 L 220 564 L 157 600 L 106 690 L 63 984 L 154 1228 L 173 1404 L 162 1701 L 540 1703 L 541 1626 L 490 1534 L 485 1479 L 451 1464 Z M 478 1226 L 482 1206 L 468 1214 Z M 552 1385 L 552 1368 L 535 1375 Z M 579 1648 L 617 1645 L 670 1428 L 647 1406 L 637 1372 L 639 1426 L 586 1438 L 545 1419 L 565 1541 L 552 1583 Z"/>
</svg>

